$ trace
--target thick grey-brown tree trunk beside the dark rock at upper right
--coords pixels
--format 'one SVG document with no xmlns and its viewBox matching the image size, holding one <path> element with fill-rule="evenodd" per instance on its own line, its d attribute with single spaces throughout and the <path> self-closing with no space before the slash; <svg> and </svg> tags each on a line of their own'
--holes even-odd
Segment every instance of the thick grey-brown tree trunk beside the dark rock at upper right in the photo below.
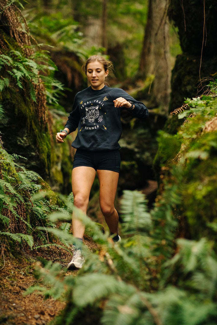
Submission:
<svg viewBox="0 0 217 325">
<path fill-rule="evenodd" d="M 168 0 L 149 0 L 138 72 L 138 77 L 150 80 L 148 92 L 151 100 L 164 113 L 168 112 L 169 107 L 171 76 L 167 9 Z"/>
</svg>

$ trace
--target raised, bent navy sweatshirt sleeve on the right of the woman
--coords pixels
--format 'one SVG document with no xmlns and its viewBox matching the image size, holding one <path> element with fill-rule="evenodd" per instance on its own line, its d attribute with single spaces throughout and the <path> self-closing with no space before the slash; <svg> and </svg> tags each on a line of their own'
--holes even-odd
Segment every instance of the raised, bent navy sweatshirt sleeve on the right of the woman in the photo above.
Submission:
<svg viewBox="0 0 217 325">
<path fill-rule="evenodd" d="M 136 100 L 135 98 L 133 98 L 132 96 L 130 96 L 125 90 L 120 89 L 120 88 L 113 88 L 115 91 L 113 91 L 112 97 L 114 97 L 114 100 L 118 97 L 123 97 L 125 98 L 127 101 L 131 101 L 135 107 L 133 110 L 129 110 L 125 107 L 121 108 L 124 110 L 128 110 L 134 117 L 138 117 L 138 118 L 147 118 L 149 116 L 148 113 L 148 109 L 145 106 L 145 104 L 143 104 L 142 102 Z"/>
</svg>

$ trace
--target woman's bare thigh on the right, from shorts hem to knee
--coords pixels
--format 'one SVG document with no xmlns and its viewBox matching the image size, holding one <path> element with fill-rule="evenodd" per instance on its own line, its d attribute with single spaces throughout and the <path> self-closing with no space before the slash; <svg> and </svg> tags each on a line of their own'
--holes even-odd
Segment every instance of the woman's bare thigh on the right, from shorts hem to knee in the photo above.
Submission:
<svg viewBox="0 0 217 325">
<path fill-rule="evenodd" d="M 111 170 L 97 170 L 100 183 L 100 205 L 114 206 L 119 173 Z"/>
</svg>

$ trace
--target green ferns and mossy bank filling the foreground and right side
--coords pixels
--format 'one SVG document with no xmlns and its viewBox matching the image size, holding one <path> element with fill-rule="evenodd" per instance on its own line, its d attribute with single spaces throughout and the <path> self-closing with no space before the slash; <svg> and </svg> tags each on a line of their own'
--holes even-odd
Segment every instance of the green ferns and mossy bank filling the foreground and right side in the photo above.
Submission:
<svg viewBox="0 0 217 325">
<path fill-rule="evenodd" d="M 187 122 L 172 139 L 173 158 L 166 153 L 170 159 L 161 169 L 154 209 L 148 212 L 142 193 L 125 191 L 122 241 L 116 246 L 77 213 L 99 250 L 84 248 L 86 262 L 77 277 L 51 262 L 37 270 L 50 289 L 34 289 L 67 301 L 53 324 L 91 324 L 92 317 L 106 325 L 216 323 L 217 98 L 187 101 L 189 109 L 181 115 Z M 165 139 L 161 133 L 159 144 Z M 50 221 L 59 218 L 51 215 Z M 74 240 L 68 232 L 47 230 L 68 245 Z"/>
</svg>

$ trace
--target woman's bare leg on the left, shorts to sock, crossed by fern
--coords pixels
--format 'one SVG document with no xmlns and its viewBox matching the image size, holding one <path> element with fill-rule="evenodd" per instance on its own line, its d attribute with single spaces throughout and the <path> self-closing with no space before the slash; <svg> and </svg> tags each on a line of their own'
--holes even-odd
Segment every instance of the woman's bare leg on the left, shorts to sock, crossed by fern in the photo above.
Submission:
<svg viewBox="0 0 217 325">
<path fill-rule="evenodd" d="M 90 190 L 93 185 L 96 171 L 92 167 L 79 166 L 72 170 L 72 192 L 74 195 L 74 205 L 87 213 Z M 83 238 L 85 227 L 80 220 L 76 219 L 76 213 L 72 215 L 73 236 Z"/>
</svg>

